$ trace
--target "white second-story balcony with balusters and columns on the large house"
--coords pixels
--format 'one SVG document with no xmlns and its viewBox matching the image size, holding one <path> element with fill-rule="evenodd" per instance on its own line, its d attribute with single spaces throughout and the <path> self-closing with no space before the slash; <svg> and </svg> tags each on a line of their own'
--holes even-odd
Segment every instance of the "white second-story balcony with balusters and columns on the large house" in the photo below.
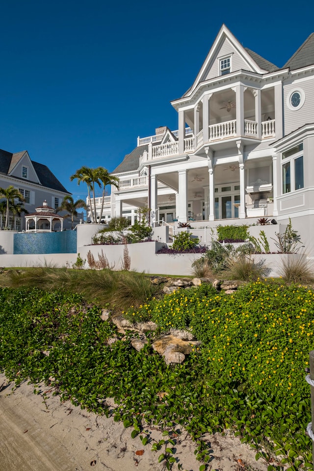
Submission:
<svg viewBox="0 0 314 471">
<path fill-rule="evenodd" d="M 142 163 L 158 158 L 203 154 L 204 146 L 232 147 L 278 139 L 282 129 L 281 87 L 256 89 L 237 82 L 235 86 L 207 93 L 191 107 L 178 108 L 179 130 L 158 128 L 155 136 L 138 138 L 147 144 Z M 183 105 L 183 104 L 182 104 Z M 278 129 L 277 129 L 278 128 Z"/>
</svg>

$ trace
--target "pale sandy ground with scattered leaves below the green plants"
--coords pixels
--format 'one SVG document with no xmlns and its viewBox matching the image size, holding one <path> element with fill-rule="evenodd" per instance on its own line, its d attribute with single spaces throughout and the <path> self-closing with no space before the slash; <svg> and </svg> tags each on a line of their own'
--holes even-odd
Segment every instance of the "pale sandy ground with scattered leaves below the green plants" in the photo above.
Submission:
<svg viewBox="0 0 314 471">
<path fill-rule="evenodd" d="M 0 471 L 165 470 L 165 462 L 158 463 L 164 450 L 151 450 L 154 440 L 166 438 L 159 431 L 148 429 L 151 443 L 143 446 L 139 437 L 131 438 L 131 428 L 60 402 L 48 386 L 40 385 L 39 394 L 27 382 L 12 392 L 13 387 L 0 374 Z M 209 470 L 267 470 L 238 439 L 218 434 L 206 438 L 212 450 Z M 184 431 L 175 448 L 173 470 L 181 464 L 183 470 L 199 471 L 195 444 Z"/>
</svg>

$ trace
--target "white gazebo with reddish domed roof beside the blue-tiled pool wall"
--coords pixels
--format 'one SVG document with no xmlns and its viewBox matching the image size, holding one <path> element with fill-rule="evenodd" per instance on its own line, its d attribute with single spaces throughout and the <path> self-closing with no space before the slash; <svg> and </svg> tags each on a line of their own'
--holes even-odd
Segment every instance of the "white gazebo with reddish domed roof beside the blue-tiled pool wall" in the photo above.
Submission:
<svg viewBox="0 0 314 471">
<path fill-rule="evenodd" d="M 35 227 L 30 229 L 29 225 L 31 221 L 33 221 Z M 54 226 L 57 222 L 60 222 L 60 231 L 62 231 L 63 216 L 56 214 L 55 209 L 48 206 L 47 201 L 45 200 L 43 206 L 38 206 L 38 208 L 36 208 L 36 212 L 25 216 L 25 232 L 53 232 Z"/>
</svg>

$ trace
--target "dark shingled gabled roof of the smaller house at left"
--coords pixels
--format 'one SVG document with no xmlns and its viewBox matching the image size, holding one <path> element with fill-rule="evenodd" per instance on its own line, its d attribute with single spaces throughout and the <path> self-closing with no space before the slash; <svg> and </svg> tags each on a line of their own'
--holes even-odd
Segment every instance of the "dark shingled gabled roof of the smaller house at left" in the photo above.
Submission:
<svg viewBox="0 0 314 471">
<path fill-rule="evenodd" d="M 11 152 L 7 152 L 0 149 L 0 174 L 9 175 L 9 173 L 14 169 L 14 167 L 17 165 L 17 163 L 21 160 L 21 158 L 25 154 L 27 154 L 27 151 L 16 152 L 12 154 Z M 42 184 L 43 186 L 46 186 L 47 188 L 51 188 L 52 190 L 61 191 L 62 193 L 69 193 L 69 191 L 65 189 L 62 183 L 60 183 L 59 180 L 53 175 L 52 171 L 47 167 L 47 165 L 34 162 L 33 160 L 30 160 L 30 161 L 34 167 L 34 170 L 36 172 L 36 175 L 39 179 L 40 184 Z M 24 181 L 30 182 L 30 180 L 25 180 L 23 178 L 18 178 L 14 176 L 12 176 L 12 178 L 21 180 L 23 182 Z M 38 184 L 38 182 L 32 182 L 32 183 Z"/>
</svg>

